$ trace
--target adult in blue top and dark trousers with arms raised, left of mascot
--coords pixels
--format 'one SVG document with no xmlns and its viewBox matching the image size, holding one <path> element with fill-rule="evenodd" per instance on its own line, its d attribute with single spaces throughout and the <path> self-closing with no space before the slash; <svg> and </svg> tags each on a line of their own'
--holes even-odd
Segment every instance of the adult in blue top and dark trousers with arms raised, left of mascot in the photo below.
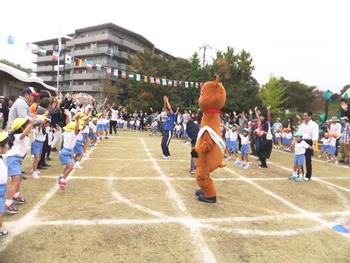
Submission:
<svg viewBox="0 0 350 263">
<path fill-rule="evenodd" d="M 164 101 L 164 111 L 166 113 L 167 118 L 163 124 L 163 138 L 162 138 L 161 146 L 163 151 L 163 158 L 166 160 L 169 160 L 170 159 L 169 143 L 173 135 L 173 129 L 176 122 L 176 114 L 171 108 L 171 105 L 169 103 L 169 98 L 167 96 L 164 96 L 163 101 Z"/>
</svg>

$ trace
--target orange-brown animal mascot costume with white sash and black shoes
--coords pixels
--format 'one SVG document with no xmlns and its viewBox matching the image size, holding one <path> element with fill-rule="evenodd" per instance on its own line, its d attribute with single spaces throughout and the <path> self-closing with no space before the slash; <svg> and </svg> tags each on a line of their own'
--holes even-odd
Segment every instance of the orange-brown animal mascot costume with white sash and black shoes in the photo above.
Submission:
<svg viewBox="0 0 350 263">
<path fill-rule="evenodd" d="M 203 118 L 192 156 L 196 158 L 196 180 L 200 187 L 195 194 L 199 201 L 206 203 L 216 202 L 216 189 L 209 174 L 225 166 L 222 163 L 225 143 L 220 125 L 220 112 L 225 102 L 226 91 L 218 76 L 215 81 L 204 83 L 198 100 Z"/>
</svg>

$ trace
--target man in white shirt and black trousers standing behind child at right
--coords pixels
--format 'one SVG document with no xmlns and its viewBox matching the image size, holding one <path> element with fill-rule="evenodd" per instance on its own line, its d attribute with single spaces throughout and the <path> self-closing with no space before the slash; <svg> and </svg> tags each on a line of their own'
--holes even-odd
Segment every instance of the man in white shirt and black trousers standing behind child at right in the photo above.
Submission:
<svg viewBox="0 0 350 263">
<path fill-rule="evenodd" d="M 303 123 L 300 125 L 298 132 L 303 134 L 303 140 L 310 146 L 316 147 L 318 143 L 319 127 L 316 122 L 312 120 L 312 112 L 305 112 L 303 114 Z M 305 151 L 306 174 L 304 180 L 309 181 L 312 176 L 312 156 L 313 148 L 310 147 Z"/>
</svg>

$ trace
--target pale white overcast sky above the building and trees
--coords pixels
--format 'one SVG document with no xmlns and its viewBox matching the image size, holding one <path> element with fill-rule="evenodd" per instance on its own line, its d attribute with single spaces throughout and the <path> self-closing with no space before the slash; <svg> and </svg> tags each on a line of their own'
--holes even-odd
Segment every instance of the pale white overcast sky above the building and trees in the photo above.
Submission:
<svg viewBox="0 0 350 263">
<path fill-rule="evenodd" d="M 261 84 L 273 74 L 339 91 L 350 83 L 349 10 L 348 0 L 2 1 L 0 58 L 29 66 L 35 57 L 25 41 L 112 22 L 174 56 L 205 43 L 209 59 L 228 45 L 245 49 Z"/>
</svg>

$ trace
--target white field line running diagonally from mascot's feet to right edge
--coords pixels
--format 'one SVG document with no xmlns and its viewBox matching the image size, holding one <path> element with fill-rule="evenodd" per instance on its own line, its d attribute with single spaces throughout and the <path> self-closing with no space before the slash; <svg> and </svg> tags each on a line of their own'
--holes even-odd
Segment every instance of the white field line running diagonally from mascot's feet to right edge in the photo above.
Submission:
<svg viewBox="0 0 350 263">
<path fill-rule="evenodd" d="M 305 219 L 309 219 L 309 220 L 312 220 L 314 222 L 317 222 L 320 225 L 322 225 L 322 226 L 330 229 L 331 231 L 335 232 L 334 230 L 332 230 L 332 227 L 334 226 L 333 223 L 330 223 L 330 222 L 328 222 L 326 220 L 323 220 L 322 218 L 319 218 L 315 214 L 310 213 L 310 212 L 308 212 L 308 211 L 298 207 L 297 205 L 295 205 L 295 204 L 291 203 L 290 201 L 284 199 L 282 196 L 280 196 L 278 194 L 275 194 L 272 191 L 270 191 L 270 190 L 262 187 L 261 185 L 257 184 L 256 182 L 250 180 L 249 177 L 245 177 L 245 176 L 243 176 L 243 175 L 241 175 L 241 174 L 239 174 L 239 173 L 237 173 L 237 172 L 235 172 L 235 171 L 233 171 L 233 170 L 231 170 L 231 169 L 229 169 L 227 167 L 225 167 L 224 169 L 226 171 L 230 172 L 231 174 L 236 175 L 239 178 L 245 179 L 244 181 L 246 183 L 254 186 L 255 188 L 257 188 L 257 189 L 261 190 L 262 192 L 264 192 L 266 195 L 273 197 L 274 199 L 278 200 L 279 202 L 281 202 L 281 203 L 285 204 L 286 206 L 292 208 L 293 210 L 299 212 L 301 215 L 304 216 Z M 343 234 L 343 233 L 339 233 L 339 232 L 335 232 L 335 233 L 337 233 L 337 234 L 339 234 L 341 236 L 344 236 L 347 239 L 350 239 L 350 235 L 349 234 Z"/>
</svg>

